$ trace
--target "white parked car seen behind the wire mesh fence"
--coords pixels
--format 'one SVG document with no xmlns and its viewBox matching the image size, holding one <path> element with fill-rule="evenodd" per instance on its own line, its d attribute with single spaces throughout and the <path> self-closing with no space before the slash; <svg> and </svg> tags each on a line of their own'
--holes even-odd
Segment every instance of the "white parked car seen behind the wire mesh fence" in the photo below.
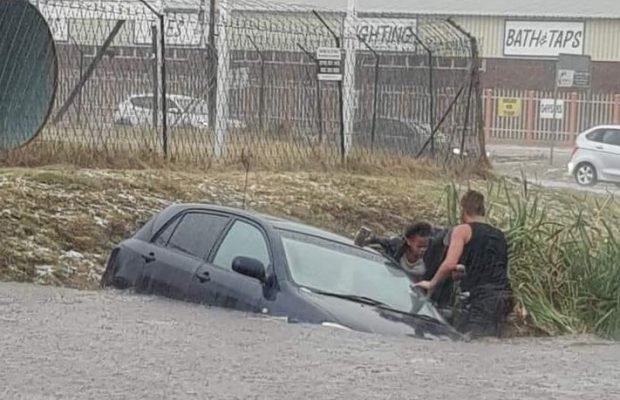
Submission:
<svg viewBox="0 0 620 400">
<path fill-rule="evenodd" d="M 114 123 L 130 126 L 149 126 L 153 123 L 153 94 L 132 95 L 119 104 Z M 202 99 L 179 94 L 166 95 L 167 122 L 171 127 L 207 128 L 209 104 Z M 160 111 L 161 112 L 161 111 Z M 238 120 L 229 120 L 232 128 L 244 128 Z"/>
</svg>

